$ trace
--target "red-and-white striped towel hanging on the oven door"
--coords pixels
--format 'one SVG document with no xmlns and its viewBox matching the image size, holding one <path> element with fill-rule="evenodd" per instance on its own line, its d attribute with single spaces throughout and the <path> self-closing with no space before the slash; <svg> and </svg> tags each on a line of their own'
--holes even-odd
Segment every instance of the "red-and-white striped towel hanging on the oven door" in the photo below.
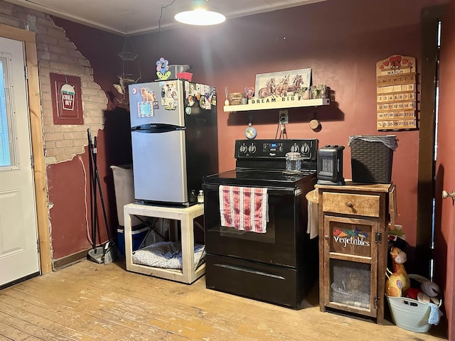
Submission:
<svg viewBox="0 0 455 341">
<path fill-rule="evenodd" d="M 267 188 L 220 185 L 221 226 L 246 232 L 267 232 Z"/>
</svg>

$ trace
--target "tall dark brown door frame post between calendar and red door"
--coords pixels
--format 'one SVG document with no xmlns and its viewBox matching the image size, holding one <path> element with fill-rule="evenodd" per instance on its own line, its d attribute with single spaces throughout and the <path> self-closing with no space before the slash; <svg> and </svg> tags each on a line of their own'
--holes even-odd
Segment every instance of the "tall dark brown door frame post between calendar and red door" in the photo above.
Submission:
<svg viewBox="0 0 455 341">
<path fill-rule="evenodd" d="M 422 65 L 417 185 L 417 242 L 415 273 L 432 279 L 434 235 L 434 175 L 437 151 L 437 89 L 441 21 L 445 6 L 422 11 Z"/>
</svg>

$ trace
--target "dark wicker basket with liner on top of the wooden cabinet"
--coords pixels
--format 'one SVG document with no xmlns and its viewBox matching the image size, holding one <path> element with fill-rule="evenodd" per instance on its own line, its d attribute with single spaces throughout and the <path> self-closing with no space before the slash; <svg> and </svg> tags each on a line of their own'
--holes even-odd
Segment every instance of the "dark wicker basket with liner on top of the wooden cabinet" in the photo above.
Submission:
<svg viewBox="0 0 455 341">
<path fill-rule="evenodd" d="M 349 145 L 353 182 L 391 183 L 395 135 L 350 136 Z"/>
</svg>

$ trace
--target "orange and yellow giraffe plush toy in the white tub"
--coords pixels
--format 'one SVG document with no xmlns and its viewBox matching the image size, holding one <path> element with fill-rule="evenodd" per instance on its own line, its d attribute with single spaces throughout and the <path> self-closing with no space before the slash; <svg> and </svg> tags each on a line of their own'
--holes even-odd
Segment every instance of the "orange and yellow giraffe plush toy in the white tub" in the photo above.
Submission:
<svg viewBox="0 0 455 341">
<path fill-rule="evenodd" d="M 392 257 L 393 272 L 387 269 L 385 274 L 387 276 L 385 293 L 392 297 L 406 296 L 407 289 L 410 288 L 410 278 L 403 265 L 407 261 L 407 255 L 401 249 L 392 247 L 390 256 Z"/>
</svg>

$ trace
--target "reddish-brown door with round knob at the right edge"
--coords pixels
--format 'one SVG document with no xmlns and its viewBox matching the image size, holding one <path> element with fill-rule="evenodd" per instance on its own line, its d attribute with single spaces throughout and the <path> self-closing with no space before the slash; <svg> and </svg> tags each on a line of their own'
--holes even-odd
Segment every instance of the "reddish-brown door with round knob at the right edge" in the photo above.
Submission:
<svg viewBox="0 0 455 341">
<path fill-rule="evenodd" d="M 449 341 L 455 341 L 455 202 L 441 193 L 455 191 L 455 0 L 444 10 L 439 63 L 436 207 L 434 226 L 434 282 L 444 288 Z"/>
</svg>

